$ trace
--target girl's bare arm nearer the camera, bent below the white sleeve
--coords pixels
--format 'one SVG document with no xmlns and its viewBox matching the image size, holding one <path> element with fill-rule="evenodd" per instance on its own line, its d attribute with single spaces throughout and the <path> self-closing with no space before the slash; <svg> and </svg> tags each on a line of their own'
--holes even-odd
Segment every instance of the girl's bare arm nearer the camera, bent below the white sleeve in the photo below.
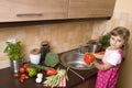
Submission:
<svg viewBox="0 0 132 88">
<path fill-rule="evenodd" d="M 111 68 L 113 65 L 106 63 L 106 64 L 99 64 L 98 62 L 94 62 L 94 65 L 99 69 L 99 70 L 107 70 Z"/>
</svg>

